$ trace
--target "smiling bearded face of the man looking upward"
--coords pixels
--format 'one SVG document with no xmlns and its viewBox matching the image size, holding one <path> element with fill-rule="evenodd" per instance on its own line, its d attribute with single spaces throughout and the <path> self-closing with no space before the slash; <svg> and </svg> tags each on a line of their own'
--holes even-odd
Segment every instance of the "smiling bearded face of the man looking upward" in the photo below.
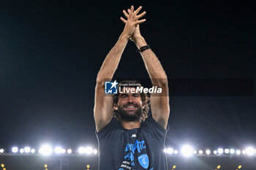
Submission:
<svg viewBox="0 0 256 170">
<path fill-rule="evenodd" d="M 144 108 L 140 93 L 131 93 L 132 88 L 127 88 L 129 93 L 120 93 L 118 103 L 114 104 L 114 109 L 118 111 L 121 120 L 131 122 L 140 120 Z"/>
</svg>

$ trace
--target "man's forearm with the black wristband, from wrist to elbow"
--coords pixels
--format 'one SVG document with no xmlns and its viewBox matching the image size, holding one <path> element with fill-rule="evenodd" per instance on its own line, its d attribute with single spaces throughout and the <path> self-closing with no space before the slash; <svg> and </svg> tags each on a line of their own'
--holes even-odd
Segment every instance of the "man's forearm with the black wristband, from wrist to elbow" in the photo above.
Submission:
<svg viewBox="0 0 256 170">
<path fill-rule="evenodd" d="M 143 36 L 138 36 L 135 39 L 135 44 L 138 48 L 147 45 Z M 140 53 L 148 71 L 149 77 L 153 85 L 159 85 L 159 83 L 167 83 L 167 76 L 157 56 L 151 49 L 144 50 Z"/>
</svg>

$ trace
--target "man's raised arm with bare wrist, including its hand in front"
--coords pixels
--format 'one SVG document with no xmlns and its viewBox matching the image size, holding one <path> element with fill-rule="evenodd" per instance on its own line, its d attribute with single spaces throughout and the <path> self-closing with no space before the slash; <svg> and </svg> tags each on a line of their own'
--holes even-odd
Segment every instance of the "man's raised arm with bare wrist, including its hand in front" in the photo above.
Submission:
<svg viewBox="0 0 256 170">
<path fill-rule="evenodd" d="M 105 61 L 102 63 L 102 67 L 97 75 L 97 84 L 95 88 L 95 101 L 94 101 L 94 120 L 96 124 L 97 132 L 100 131 L 105 125 L 107 125 L 113 117 L 113 97 L 105 95 L 105 81 L 111 80 L 113 74 L 116 72 L 118 63 L 121 59 L 121 54 L 127 45 L 129 38 L 135 31 L 136 26 L 139 23 L 143 23 L 146 20 L 138 20 L 142 16 L 138 17 L 141 7 L 134 11 L 132 6 L 129 9 L 131 12 L 127 14 L 127 23 L 124 26 L 124 31 L 119 36 L 116 45 L 110 50 Z"/>
</svg>

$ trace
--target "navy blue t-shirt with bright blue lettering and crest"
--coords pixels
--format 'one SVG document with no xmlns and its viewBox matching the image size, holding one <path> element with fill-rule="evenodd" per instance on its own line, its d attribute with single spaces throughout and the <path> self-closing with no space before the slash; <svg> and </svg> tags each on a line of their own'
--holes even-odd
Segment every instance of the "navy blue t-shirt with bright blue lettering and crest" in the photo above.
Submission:
<svg viewBox="0 0 256 170">
<path fill-rule="evenodd" d="M 99 170 L 167 170 L 165 134 L 149 115 L 140 128 L 127 130 L 113 119 L 97 134 Z"/>
</svg>

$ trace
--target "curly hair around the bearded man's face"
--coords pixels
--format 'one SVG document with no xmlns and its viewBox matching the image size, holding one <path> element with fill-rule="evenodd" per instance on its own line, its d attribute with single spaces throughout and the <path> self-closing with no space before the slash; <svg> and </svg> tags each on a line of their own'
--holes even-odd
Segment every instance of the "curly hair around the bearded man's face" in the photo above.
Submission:
<svg viewBox="0 0 256 170">
<path fill-rule="evenodd" d="M 122 82 L 118 82 L 118 88 L 119 88 L 120 85 L 125 86 L 125 87 L 129 87 L 129 88 L 137 88 L 137 87 L 142 86 L 140 84 L 140 82 L 138 82 L 137 80 L 125 80 L 125 81 L 122 81 Z M 146 93 L 140 93 L 140 97 L 141 97 L 141 100 L 142 100 L 142 104 L 145 106 L 144 109 L 143 109 L 143 112 L 141 114 L 140 119 L 141 119 L 141 121 L 144 121 L 148 117 L 150 98 L 148 98 Z M 117 105 L 118 99 L 119 99 L 119 92 L 113 96 L 113 104 Z M 120 121 L 120 117 L 118 116 L 118 110 L 113 109 L 113 116 L 116 118 L 116 120 Z"/>
</svg>

